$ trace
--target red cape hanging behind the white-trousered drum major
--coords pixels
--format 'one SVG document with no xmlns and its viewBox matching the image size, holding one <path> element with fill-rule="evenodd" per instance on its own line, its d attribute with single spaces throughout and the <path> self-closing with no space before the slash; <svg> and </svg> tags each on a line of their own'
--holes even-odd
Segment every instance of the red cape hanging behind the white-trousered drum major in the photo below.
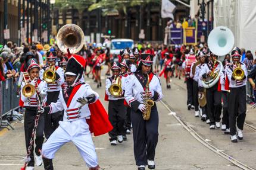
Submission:
<svg viewBox="0 0 256 170">
<path fill-rule="evenodd" d="M 97 100 L 93 104 L 89 104 L 90 119 L 86 119 L 90 127 L 90 133 L 94 136 L 108 133 L 113 129 L 110 121 L 108 120 L 108 114 L 101 101 Z"/>
</svg>

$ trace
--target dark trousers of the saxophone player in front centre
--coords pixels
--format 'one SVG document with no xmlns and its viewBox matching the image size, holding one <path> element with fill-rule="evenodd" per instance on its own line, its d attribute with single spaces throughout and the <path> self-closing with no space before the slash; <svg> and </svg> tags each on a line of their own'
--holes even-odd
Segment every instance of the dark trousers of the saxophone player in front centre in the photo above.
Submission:
<svg viewBox="0 0 256 170">
<path fill-rule="evenodd" d="M 158 111 L 152 107 L 149 120 L 143 120 L 141 111 L 131 112 L 133 128 L 133 149 L 136 165 L 148 165 L 155 159 L 155 148 L 158 142 Z"/>
</svg>

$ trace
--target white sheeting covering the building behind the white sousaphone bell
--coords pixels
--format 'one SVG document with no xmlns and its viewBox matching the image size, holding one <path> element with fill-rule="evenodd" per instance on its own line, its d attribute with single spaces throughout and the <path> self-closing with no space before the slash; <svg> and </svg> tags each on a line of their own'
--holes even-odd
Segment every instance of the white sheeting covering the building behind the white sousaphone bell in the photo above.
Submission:
<svg viewBox="0 0 256 170">
<path fill-rule="evenodd" d="M 235 36 L 235 46 L 256 50 L 256 1 L 214 0 L 214 27 L 226 26 Z"/>
</svg>

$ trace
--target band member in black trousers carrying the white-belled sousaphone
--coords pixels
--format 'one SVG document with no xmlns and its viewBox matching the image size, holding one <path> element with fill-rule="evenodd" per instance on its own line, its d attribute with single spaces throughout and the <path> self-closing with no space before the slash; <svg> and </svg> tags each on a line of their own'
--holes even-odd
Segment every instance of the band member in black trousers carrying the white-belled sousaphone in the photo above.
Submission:
<svg viewBox="0 0 256 170">
<path fill-rule="evenodd" d="M 206 62 L 202 65 L 199 76 L 202 79 L 213 77 L 213 73 L 217 73 L 221 65 L 217 60 L 217 56 L 207 52 L 208 57 Z M 207 112 L 210 119 L 210 129 L 220 128 L 220 115 L 221 115 L 221 92 L 218 90 L 218 84 L 213 85 L 211 88 L 206 89 L 207 97 Z"/>
</svg>

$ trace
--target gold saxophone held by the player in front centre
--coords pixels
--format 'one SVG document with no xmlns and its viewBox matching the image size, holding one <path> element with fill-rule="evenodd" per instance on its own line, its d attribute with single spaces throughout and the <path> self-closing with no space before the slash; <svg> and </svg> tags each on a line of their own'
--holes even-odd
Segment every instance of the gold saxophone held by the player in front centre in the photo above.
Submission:
<svg viewBox="0 0 256 170">
<path fill-rule="evenodd" d="M 154 101 L 152 101 L 148 95 L 149 93 L 149 75 L 148 75 L 148 81 L 146 82 L 146 87 L 145 87 L 145 95 L 142 96 L 143 98 L 143 104 L 146 106 L 145 111 L 143 111 L 142 116 L 144 120 L 149 120 L 150 118 L 150 113 L 151 113 L 151 108 L 154 105 Z"/>
</svg>

